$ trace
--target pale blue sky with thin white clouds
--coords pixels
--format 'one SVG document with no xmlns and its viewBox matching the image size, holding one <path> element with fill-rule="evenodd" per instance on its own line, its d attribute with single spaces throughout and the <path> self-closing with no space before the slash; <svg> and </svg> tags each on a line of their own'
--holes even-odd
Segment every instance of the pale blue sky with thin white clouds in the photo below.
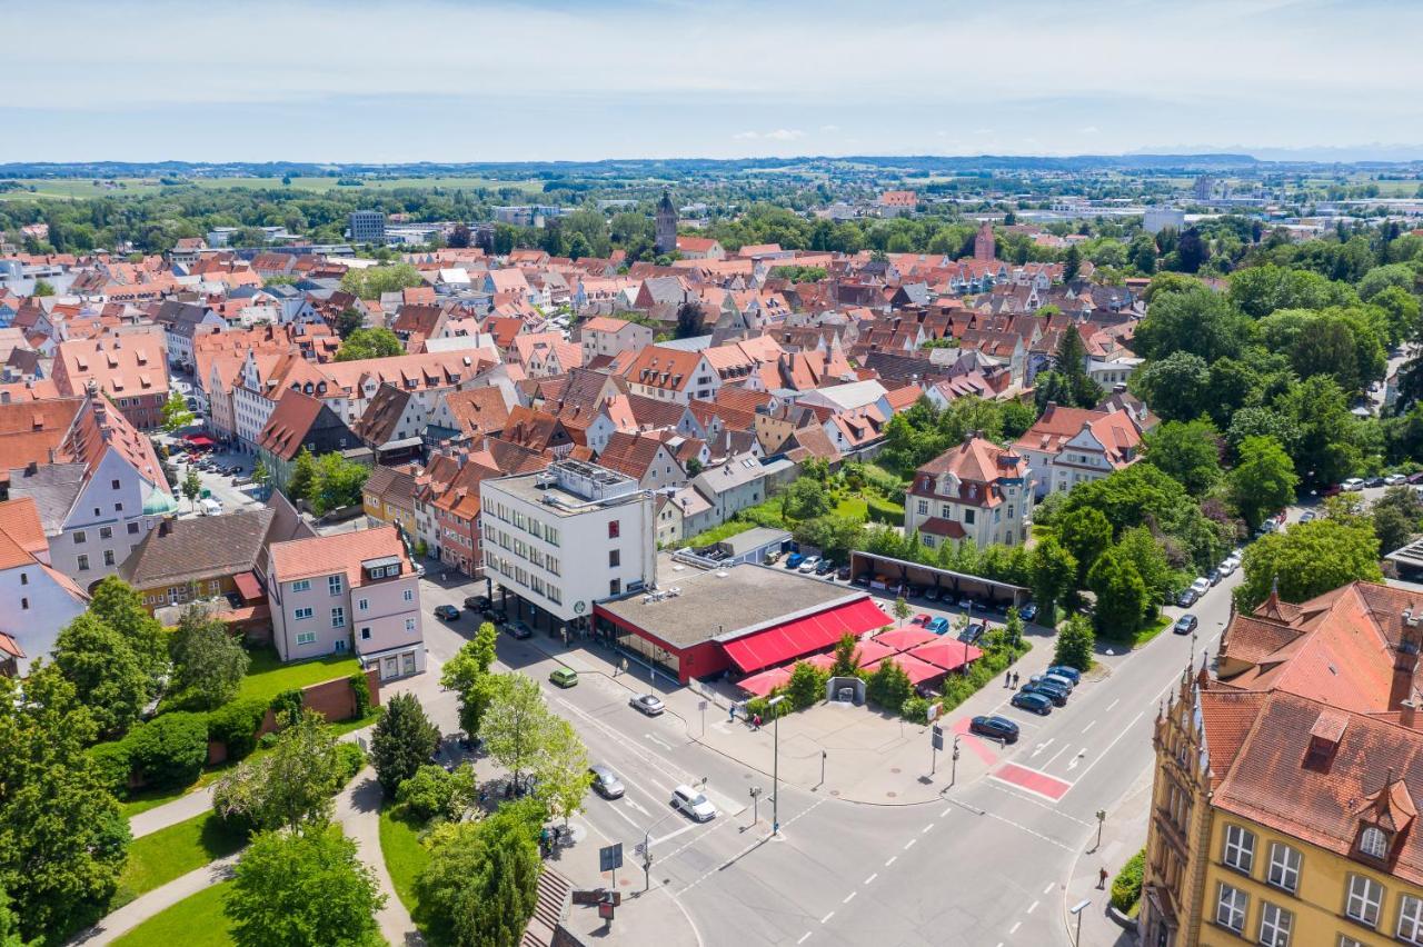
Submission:
<svg viewBox="0 0 1423 947">
<path fill-rule="evenodd" d="M 1423 158 L 1410 0 L 0 9 L 0 162 Z"/>
</svg>

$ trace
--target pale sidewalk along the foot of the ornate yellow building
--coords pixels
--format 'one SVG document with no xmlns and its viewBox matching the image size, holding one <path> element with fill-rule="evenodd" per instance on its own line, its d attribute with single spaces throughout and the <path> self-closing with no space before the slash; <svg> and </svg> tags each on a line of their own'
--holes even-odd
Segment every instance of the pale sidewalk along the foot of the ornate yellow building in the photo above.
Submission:
<svg viewBox="0 0 1423 947">
<path fill-rule="evenodd" d="M 1087 900 L 1091 903 L 1081 911 L 1080 947 L 1136 947 L 1136 931 L 1124 930 L 1113 921 L 1107 913 L 1107 903 L 1111 897 L 1111 880 L 1147 842 L 1147 818 L 1151 810 L 1154 776 L 1154 768 L 1141 774 L 1141 778 L 1131 785 L 1121 802 L 1111 806 L 1111 816 L 1101 830 L 1101 847 L 1094 847 L 1096 836 L 1090 838 L 1087 840 L 1089 850 L 1079 855 L 1073 863 L 1067 887 L 1063 892 L 1062 907 L 1069 943 L 1073 943 L 1077 933 L 1077 919 L 1069 911 L 1074 904 Z M 1101 869 L 1107 869 L 1107 883 L 1099 889 Z"/>
</svg>

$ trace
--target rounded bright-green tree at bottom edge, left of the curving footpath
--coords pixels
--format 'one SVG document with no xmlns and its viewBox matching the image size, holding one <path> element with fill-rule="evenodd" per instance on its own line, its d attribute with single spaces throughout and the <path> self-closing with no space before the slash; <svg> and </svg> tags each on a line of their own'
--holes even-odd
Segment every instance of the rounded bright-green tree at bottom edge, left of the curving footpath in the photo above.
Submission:
<svg viewBox="0 0 1423 947">
<path fill-rule="evenodd" d="M 233 872 L 223 911 L 238 947 L 361 947 L 386 896 L 337 830 L 262 832 Z"/>
</svg>

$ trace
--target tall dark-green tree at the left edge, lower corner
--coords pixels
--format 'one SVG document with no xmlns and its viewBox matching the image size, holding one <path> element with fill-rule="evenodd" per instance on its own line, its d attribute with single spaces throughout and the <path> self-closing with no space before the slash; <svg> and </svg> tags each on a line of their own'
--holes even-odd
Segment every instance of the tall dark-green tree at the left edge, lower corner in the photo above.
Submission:
<svg viewBox="0 0 1423 947">
<path fill-rule="evenodd" d="M 55 667 L 0 677 L 0 887 L 26 938 L 102 913 L 128 857 L 128 820 L 84 747 L 98 728 Z"/>
</svg>

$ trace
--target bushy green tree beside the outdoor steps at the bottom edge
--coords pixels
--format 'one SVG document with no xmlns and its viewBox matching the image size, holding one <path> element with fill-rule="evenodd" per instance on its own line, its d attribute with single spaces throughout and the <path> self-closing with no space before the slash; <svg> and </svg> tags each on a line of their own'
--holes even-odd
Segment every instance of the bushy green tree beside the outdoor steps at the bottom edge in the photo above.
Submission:
<svg viewBox="0 0 1423 947">
<path fill-rule="evenodd" d="M 416 880 L 430 926 L 455 947 L 517 947 L 538 903 L 536 803 L 499 806 L 481 822 L 437 826 Z"/>
</svg>

